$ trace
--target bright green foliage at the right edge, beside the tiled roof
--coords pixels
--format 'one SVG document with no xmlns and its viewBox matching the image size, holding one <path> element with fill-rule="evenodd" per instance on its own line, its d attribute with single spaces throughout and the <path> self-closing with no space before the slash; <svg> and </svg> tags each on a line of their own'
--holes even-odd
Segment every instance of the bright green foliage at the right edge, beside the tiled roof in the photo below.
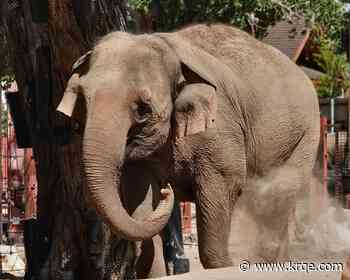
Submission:
<svg viewBox="0 0 350 280">
<path fill-rule="evenodd" d="M 319 53 L 314 54 L 315 61 L 325 72 L 317 87 L 320 97 L 336 97 L 350 87 L 350 65 L 345 55 L 335 53 L 334 43 L 320 38 Z"/>
</svg>

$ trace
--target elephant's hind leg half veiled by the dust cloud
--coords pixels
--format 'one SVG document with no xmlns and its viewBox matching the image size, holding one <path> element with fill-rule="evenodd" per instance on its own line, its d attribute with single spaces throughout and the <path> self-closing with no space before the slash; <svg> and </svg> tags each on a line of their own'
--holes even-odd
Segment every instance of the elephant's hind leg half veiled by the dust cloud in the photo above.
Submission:
<svg viewBox="0 0 350 280">
<path fill-rule="evenodd" d="M 261 232 L 257 249 L 265 260 L 290 259 L 290 223 L 295 224 L 297 231 L 307 227 L 316 139 L 306 134 L 283 166 L 253 182 L 257 189 L 252 189 L 253 196 L 259 199 L 253 212 Z"/>
</svg>

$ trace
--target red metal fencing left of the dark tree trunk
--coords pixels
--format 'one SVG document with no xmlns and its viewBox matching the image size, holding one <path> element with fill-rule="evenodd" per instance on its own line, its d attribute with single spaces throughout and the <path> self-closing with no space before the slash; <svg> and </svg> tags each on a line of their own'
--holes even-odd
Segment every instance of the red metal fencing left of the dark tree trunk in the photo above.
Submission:
<svg viewBox="0 0 350 280">
<path fill-rule="evenodd" d="M 6 104 L 2 103 L 6 109 Z M 1 115 L 1 211 L 0 229 L 7 239 L 22 241 L 22 221 L 36 217 L 37 181 L 31 149 L 19 149 L 13 122 L 4 110 Z M 0 242 L 3 238 L 0 238 Z"/>
</svg>

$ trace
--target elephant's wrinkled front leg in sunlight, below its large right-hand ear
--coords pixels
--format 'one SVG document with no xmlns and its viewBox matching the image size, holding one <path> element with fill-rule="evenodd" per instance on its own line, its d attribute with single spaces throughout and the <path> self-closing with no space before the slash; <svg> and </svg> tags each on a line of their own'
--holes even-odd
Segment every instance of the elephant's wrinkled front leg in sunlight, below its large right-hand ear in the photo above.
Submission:
<svg viewBox="0 0 350 280">
<path fill-rule="evenodd" d="M 177 176 L 188 179 L 196 202 L 202 265 L 232 266 L 228 248 L 231 214 L 246 182 L 243 137 L 206 131 L 178 140 L 174 151 Z"/>
</svg>

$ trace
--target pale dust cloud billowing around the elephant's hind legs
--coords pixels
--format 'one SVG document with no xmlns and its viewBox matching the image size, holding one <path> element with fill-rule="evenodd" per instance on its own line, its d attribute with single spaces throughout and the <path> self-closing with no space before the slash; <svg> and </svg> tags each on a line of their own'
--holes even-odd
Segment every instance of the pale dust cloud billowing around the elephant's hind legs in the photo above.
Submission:
<svg viewBox="0 0 350 280">
<path fill-rule="evenodd" d="M 350 255 L 350 210 L 336 205 L 317 178 L 306 188 L 301 176 L 284 168 L 248 182 L 232 220 L 235 263 L 344 261 Z"/>
</svg>

